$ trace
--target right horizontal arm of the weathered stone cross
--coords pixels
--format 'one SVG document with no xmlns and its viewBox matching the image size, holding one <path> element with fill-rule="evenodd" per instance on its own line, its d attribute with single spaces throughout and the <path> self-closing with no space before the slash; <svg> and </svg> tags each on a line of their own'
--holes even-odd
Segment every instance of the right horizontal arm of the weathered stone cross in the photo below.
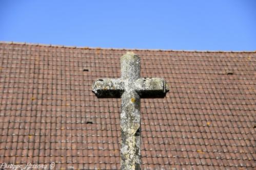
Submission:
<svg viewBox="0 0 256 170">
<path fill-rule="evenodd" d="M 141 98 L 164 98 L 169 91 L 169 86 L 163 78 L 140 78 L 134 85 Z"/>
</svg>

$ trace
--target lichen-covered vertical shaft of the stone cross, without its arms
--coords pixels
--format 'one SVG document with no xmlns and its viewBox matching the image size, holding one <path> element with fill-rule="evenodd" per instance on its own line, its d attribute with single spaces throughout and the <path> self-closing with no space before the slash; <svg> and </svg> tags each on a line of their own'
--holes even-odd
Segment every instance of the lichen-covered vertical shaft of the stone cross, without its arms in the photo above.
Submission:
<svg viewBox="0 0 256 170">
<path fill-rule="evenodd" d="M 132 53 L 121 57 L 121 169 L 141 169 L 141 98 L 134 90 L 140 78 L 141 60 Z"/>
</svg>

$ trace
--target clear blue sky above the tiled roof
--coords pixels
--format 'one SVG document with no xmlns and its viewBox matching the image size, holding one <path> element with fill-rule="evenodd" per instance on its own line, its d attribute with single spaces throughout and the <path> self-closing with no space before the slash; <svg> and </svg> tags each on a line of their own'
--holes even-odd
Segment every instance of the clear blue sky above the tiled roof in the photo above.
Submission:
<svg viewBox="0 0 256 170">
<path fill-rule="evenodd" d="M 171 50 L 256 50 L 256 1 L 3 1 L 0 40 Z"/>
</svg>

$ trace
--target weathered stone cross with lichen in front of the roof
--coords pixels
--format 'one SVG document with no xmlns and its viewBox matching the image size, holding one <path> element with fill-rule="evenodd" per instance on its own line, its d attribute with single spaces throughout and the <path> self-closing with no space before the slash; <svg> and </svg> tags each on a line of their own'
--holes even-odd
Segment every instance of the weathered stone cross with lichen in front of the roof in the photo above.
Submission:
<svg viewBox="0 0 256 170">
<path fill-rule="evenodd" d="M 163 78 L 141 78 L 141 59 L 133 52 L 121 57 L 121 78 L 97 79 L 97 98 L 121 98 L 121 169 L 141 169 L 141 98 L 164 98 Z"/>
</svg>

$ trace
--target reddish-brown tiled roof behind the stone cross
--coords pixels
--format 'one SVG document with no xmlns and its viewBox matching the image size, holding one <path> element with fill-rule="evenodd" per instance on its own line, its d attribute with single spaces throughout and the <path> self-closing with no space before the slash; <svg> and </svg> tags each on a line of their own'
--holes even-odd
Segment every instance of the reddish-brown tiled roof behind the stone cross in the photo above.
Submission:
<svg viewBox="0 0 256 170">
<path fill-rule="evenodd" d="M 142 99 L 142 169 L 255 169 L 256 52 L 193 52 L 0 43 L 0 163 L 120 168 L 120 99 L 96 78 L 163 77 L 164 99 Z"/>
</svg>

